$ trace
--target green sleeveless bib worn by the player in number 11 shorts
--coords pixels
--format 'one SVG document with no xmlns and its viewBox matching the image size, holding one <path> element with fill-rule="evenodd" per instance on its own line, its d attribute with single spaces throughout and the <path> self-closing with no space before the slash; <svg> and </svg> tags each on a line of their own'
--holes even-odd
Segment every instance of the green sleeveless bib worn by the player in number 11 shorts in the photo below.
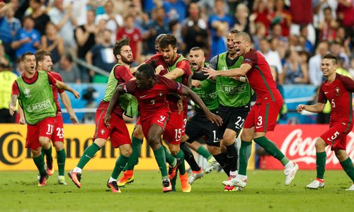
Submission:
<svg viewBox="0 0 354 212">
<path fill-rule="evenodd" d="M 57 106 L 53 99 L 53 91 L 45 71 L 38 71 L 35 83 L 28 84 L 22 76 L 16 79 L 20 94 L 18 99 L 28 124 L 37 124 L 47 117 L 55 117 Z"/>
</svg>

